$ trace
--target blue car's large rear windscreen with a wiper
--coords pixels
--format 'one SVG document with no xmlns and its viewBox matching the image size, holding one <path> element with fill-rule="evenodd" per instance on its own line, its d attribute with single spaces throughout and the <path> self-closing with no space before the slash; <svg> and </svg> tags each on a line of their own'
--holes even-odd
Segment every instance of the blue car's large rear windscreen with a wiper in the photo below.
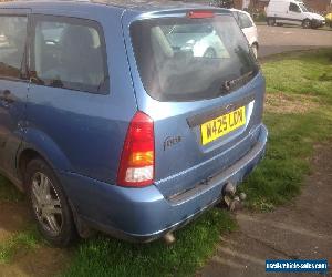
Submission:
<svg viewBox="0 0 332 277">
<path fill-rule="evenodd" d="M 196 101 L 227 94 L 258 72 L 232 16 L 135 21 L 131 37 L 147 93 L 159 101 Z"/>
</svg>

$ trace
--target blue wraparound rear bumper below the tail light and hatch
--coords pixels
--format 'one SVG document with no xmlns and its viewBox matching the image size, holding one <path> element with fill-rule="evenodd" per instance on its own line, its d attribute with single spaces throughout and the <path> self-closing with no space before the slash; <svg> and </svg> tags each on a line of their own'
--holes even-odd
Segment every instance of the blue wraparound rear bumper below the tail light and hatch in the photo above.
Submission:
<svg viewBox="0 0 332 277">
<path fill-rule="evenodd" d="M 126 188 L 73 173 L 60 174 L 80 217 L 117 238 L 149 242 L 179 228 L 217 204 L 225 184 L 239 184 L 262 158 L 268 131 L 238 162 L 190 191 L 165 198 L 156 186 Z"/>
</svg>

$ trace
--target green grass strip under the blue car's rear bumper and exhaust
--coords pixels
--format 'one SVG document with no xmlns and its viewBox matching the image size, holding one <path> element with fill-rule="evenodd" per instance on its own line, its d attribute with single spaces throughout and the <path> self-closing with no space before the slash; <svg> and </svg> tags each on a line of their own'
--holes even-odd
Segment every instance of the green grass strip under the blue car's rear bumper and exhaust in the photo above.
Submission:
<svg viewBox="0 0 332 277">
<path fill-rule="evenodd" d="M 215 250 L 221 233 L 232 230 L 229 214 L 212 209 L 176 233 L 177 242 L 129 244 L 97 237 L 82 243 L 64 276 L 188 276 Z"/>
</svg>

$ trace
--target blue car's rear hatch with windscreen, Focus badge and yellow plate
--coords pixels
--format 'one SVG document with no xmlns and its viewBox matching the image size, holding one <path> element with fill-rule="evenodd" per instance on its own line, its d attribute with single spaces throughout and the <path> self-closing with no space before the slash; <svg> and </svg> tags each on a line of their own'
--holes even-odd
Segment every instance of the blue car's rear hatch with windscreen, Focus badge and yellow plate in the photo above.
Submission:
<svg viewBox="0 0 332 277">
<path fill-rule="evenodd" d="M 128 11 L 123 25 L 138 110 L 154 121 L 155 185 L 172 197 L 253 146 L 264 81 L 226 10 Z"/>
</svg>

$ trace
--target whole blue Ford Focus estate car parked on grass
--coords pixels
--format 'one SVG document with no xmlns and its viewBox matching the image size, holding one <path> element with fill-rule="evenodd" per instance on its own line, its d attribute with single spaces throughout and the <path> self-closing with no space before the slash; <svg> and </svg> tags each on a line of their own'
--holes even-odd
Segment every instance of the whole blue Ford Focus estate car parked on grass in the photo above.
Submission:
<svg viewBox="0 0 332 277">
<path fill-rule="evenodd" d="M 164 237 L 263 155 L 264 79 L 228 10 L 15 1 L 0 38 L 0 172 L 54 245 Z"/>
</svg>

